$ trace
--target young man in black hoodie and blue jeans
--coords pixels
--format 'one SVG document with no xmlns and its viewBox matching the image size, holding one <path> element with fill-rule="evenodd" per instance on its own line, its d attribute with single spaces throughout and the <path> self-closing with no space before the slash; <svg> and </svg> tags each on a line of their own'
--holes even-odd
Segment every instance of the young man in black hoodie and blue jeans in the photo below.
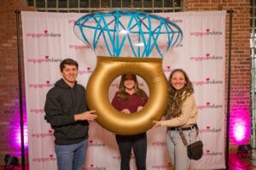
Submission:
<svg viewBox="0 0 256 170">
<path fill-rule="evenodd" d="M 60 65 L 62 78 L 46 95 L 45 120 L 55 130 L 55 154 L 59 170 L 82 170 L 88 143 L 89 122 L 96 119 L 88 111 L 85 88 L 78 84 L 79 64 L 64 59 Z"/>
</svg>

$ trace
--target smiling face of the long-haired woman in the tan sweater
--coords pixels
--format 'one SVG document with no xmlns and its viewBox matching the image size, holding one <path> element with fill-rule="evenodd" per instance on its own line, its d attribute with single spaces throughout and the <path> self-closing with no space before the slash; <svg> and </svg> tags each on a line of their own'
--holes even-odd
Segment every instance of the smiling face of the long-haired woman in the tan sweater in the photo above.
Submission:
<svg viewBox="0 0 256 170">
<path fill-rule="evenodd" d="M 172 84 L 172 87 L 175 88 L 176 90 L 182 89 L 186 83 L 185 76 L 183 75 L 183 72 L 181 72 L 181 71 L 174 72 L 172 74 L 170 82 Z"/>
</svg>

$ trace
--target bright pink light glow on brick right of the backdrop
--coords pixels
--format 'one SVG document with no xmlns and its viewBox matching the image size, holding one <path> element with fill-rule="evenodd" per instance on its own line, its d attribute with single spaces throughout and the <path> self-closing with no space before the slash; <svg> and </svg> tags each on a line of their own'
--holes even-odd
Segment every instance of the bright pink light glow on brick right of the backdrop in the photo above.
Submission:
<svg viewBox="0 0 256 170">
<path fill-rule="evenodd" d="M 236 110 L 230 114 L 230 139 L 235 144 L 247 144 L 251 135 L 251 118 L 248 111 Z"/>
</svg>

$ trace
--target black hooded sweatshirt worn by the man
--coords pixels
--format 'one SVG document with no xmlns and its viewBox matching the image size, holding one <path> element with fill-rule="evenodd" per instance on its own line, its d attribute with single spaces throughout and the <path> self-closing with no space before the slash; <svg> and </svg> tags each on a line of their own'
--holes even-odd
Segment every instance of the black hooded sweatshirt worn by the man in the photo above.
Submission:
<svg viewBox="0 0 256 170">
<path fill-rule="evenodd" d="M 61 79 L 46 95 L 44 119 L 55 130 L 55 144 L 77 144 L 88 138 L 89 123 L 74 121 L 74 115 L 88 111 L 85 88 L 75 82 L 73 88 Z"/>
</svg>

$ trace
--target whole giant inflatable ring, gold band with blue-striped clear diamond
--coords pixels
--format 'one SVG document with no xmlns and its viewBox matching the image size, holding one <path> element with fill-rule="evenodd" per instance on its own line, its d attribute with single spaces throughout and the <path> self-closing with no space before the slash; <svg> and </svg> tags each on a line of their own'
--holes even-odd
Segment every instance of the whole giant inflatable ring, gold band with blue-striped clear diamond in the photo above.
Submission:
<svg viewBox="0 0 256 170">
<path fill-rule="evenodd" d="M 74 32 L 96 56 L 111 56 L 97 57 L 96 69 L 87 84 L 87 102 L 90 110 L 96 110 L 96 122 L 113 133 L 147 131 L 167 107 L 168 84 L 162 59 L 155 57 L 162 58 L 181 42 L 182 30 L 171 20 L 155 14 L 112 10 L 85 14 L 76 20 Z M 143 77 L 149 88 L 147 104 L 131 115 L 115 110 L 108 98 L 111 82 L 125 73 Z"/>
</svg>

